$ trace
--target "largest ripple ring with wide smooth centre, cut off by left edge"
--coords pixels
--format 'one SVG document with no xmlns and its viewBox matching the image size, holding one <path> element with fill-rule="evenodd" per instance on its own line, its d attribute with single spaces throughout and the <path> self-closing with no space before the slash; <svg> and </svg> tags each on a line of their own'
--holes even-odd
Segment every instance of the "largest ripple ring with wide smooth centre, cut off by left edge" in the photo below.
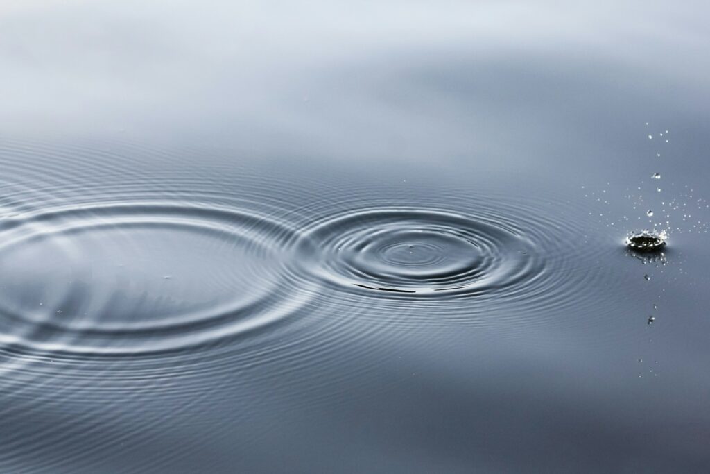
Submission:
<svg viewBox="0 0 710 474">
<path fill-rule="evenodd" d="M 141 354 L 264 328 L 300 306 L 293 230 L 231 209 L 55 208 L 0 220 L 0 340 L 24 350 Z"/>
</svg>

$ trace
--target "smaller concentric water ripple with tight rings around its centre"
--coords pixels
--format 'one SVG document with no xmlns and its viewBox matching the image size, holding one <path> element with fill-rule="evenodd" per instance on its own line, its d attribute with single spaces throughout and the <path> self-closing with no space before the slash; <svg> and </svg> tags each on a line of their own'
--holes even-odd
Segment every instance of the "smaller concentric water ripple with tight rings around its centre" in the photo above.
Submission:
<svg viewBox="0 0 710 474">
<path fill-rule="evenodd" d="M 514 227 L 439 210 L 339 215 L 307 232 L 302 246 L 324 281 L 412 296 L 505 291 L 542 271 L 535 244 Z"/>
</svg>

